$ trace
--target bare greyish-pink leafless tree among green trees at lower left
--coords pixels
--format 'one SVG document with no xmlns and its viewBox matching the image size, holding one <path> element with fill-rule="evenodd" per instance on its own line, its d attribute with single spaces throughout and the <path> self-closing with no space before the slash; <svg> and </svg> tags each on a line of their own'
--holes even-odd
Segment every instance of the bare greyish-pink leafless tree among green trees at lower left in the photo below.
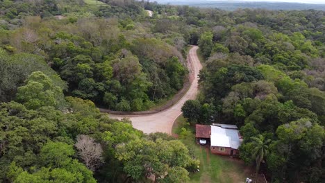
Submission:
<svg viewBox="0 0 325 183">
<path fill-rule="evenodd" d="M 81 134 L 76 139 L 74 144 L 78 150 L 78 155 L 85 162 L 85 166 L 91 171 L 95 171 L 103 164 L 103 149 L 101 144 L 96 143 L 92 137 Z"/>
</svg>

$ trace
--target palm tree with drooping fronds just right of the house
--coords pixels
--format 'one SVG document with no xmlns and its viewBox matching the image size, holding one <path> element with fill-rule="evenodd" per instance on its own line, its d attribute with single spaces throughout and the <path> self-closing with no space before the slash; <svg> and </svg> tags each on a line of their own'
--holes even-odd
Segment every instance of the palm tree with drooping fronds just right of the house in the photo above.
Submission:
<svg viewBox="0 0 325 183">
<path fill-rule="evenodd" d="M 252 155 L 253 158 L 256 159 L 256 174 L 258 174 L 258 171 L 260 170 L 260 163 L 267 156 L 270 139 L 265 140 L 263 135 L 259 134 L 257 137 L 251 137 L 251 140 L 254 147 L 252 150 Z"/>
</svg>

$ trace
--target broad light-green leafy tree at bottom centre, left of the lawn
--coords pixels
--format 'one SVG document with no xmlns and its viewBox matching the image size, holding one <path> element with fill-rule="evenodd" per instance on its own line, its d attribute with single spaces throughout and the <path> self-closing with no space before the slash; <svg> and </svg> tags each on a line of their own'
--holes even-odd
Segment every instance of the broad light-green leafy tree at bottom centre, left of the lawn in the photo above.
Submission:
<svg viewBox="0 0 325 183">
<path fill-rule="evenodd" d="M 124 171 L 131 180 L 154 175 L 155 182 L 183 182 L 189 179 L 187 168 L 198 166 L 188 148 L 176 140 L 133 139 L 119 143 L 115 156 L 123 162 Z"/>
</svg>

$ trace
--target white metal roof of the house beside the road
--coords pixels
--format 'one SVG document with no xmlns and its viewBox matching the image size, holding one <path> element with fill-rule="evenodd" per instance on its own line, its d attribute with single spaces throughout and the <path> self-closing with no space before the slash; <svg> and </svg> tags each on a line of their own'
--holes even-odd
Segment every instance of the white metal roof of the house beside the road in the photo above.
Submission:
<svg viewBox="0 0 325 183">
<path fill-rule="evenodd" d="M 242 141 L 238 130 L 211 125 L 211 146 L 238 149 Z"/>
</svg>

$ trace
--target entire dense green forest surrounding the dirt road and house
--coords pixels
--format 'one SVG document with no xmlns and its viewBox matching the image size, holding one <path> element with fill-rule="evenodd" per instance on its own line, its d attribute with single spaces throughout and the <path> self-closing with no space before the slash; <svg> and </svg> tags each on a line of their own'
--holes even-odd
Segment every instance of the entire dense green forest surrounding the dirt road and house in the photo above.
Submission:
<svg viewBox="0 0 325 183">
<path fill-rule="evenodd" d="M 190 45 L 204 65 L 190 124 L 238 125 L 240 158 L 269 182 L 324 181 L 324 11 L 1 0 L 0 182 L 187 182 L 199 161 L 181 141 L 97 107 L 167 101 Z"/>
</svg>

